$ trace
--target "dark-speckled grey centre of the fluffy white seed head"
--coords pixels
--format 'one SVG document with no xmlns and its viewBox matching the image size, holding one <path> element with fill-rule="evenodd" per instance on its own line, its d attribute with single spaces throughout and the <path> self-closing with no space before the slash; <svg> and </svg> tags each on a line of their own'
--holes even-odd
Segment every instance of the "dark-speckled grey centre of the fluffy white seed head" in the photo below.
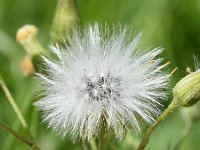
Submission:
<svg viewBox="0 0 200 150">
<path fill-rule="evenodd" d="M 80 96 L 84 96 L 89 101 L 109 101 L 120 98 L 119 77 L 106 76 L 84 76 L 82 79 L 84 87 L 80 89 Z"/>
</svg>

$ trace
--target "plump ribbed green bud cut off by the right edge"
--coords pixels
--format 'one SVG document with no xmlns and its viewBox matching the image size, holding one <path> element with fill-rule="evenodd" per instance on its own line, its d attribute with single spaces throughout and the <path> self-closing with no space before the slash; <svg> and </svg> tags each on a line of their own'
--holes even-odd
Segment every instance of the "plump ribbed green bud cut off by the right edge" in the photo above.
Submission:
<svg viewBox="0 0 200 150">
<path fill-rule="evenodd" d="M 190 107 L 200 100 L 200 70 L 181 79 L 173 89 L 175 103 Z"/>
</svg>

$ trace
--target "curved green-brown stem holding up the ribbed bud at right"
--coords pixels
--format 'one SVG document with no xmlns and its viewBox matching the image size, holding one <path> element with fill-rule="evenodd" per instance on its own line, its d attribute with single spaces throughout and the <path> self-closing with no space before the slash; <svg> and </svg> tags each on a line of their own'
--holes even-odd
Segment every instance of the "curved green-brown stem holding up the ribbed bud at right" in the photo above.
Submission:
<svg viewBox="0 0 200 150">
<path fill-rule="evenodd" d="M 172 100 L 171 104 L 167 107 L 167 109 L 165 109 L 165 111 L 157 118 L 157 120 L 155 121 L 154 124 L 152 124 L 148 130 L 146 131 L 139 147 L 138 150 L 143 150 L 146 145 L 148 144 L 148 141 L 150 139 L 150 136 L 152 134 L 152 132 L 154 131 L 154 129 L 163 121 L 165 120 L 171 113 L 172 111 L 178 107 L 178 105 L 176 103 L 174 103 L 175 100 Z"/>
</svg>

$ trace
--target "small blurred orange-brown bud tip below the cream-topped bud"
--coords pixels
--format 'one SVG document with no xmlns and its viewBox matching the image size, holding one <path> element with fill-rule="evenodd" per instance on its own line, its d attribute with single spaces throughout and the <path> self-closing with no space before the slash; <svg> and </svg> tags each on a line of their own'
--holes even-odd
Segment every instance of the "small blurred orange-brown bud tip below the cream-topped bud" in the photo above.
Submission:
<svg viewBox="0 0 200 150">
<path fill-rule="evenodd" d="M 35 67 L 31 61 L 31 58 L 29 56 L 25 56 L 21 61 L 21 68 L 26 76 L 34 75 L 35 73 Z"/>
</svg>

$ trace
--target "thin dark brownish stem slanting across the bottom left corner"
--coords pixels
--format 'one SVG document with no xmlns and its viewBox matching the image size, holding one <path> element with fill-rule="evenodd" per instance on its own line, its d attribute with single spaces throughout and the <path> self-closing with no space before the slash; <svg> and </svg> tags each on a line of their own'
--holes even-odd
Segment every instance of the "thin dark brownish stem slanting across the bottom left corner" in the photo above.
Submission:
<svg viewBox="0 0 200 150">
<path fill-rule="evenodd" d="M 21 135 L 19 135 L 17 132 L 15 132 L 14 130 L 10 129 L 9 127 L 7 127 L 5 124 L 0 122 L 0 128 L 4 129 L 5 131 L 7 131 L 8 133 L 12 134 L 13 136 L 15 136 L 19 141 L 21 141 L 22 143 L 28 145 L 29 147 L 31 147 L 33 150 L 39 150 L 39 147 L 35 144 L 30 142 L 29 140 L 25 139 L 24 137 L 22 137 Z"/>
</svg>

